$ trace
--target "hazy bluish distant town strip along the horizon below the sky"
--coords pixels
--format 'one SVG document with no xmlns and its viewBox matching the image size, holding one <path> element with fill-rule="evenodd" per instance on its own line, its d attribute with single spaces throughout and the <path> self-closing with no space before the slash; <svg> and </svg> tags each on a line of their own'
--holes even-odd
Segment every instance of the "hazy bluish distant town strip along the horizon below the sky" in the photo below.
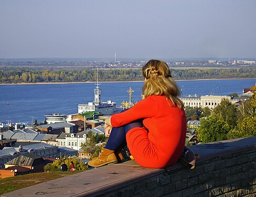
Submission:
<svg viewBox="0 0 256 197">
<path fill-rule="evenodd" d="M 42 58 L 42 59 L 0 59 L 0 68 L 3 67 L 72 67 L 72 68 L 141 68 L 148 59 L 64 59 L 64 58 Z M 164 59 L 163 59 L 164 60 Z M 169 67 L 254 67 L 255 59 L 167 59 Z"/>
</svg>

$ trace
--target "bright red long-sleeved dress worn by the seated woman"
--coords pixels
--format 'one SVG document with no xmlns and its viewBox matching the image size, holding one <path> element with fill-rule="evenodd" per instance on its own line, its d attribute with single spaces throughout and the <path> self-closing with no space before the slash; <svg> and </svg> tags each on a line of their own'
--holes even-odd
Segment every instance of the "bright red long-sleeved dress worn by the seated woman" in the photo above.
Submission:
<svg viewBox="0 0 256 197">
<path fill-rule="evenodd" d="M 120 127 L 141 118 L 144 128 L 133 128 L 126 134 L 132 156 L 147 168 L 175 164 L 185 146 L 185 111 L 173 106 L 166 96 L 152 95 L 129 110 L 111 116 L 111 125 Z"/>
</svg>

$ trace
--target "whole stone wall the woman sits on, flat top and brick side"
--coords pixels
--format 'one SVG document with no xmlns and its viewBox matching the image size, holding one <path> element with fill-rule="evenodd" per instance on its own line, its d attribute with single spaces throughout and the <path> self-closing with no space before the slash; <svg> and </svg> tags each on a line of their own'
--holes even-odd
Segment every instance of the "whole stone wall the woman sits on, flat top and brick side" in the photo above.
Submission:
<svg viewBox="0 0 256 197">
<path fill-rule="evenodd" d="M 180 163 L 166 169 L 149 169 L 128 161 L 2 196 L 256 196 L 256 137 L 190 148 L 200 155 L 192 170 Z"/>
</svg>

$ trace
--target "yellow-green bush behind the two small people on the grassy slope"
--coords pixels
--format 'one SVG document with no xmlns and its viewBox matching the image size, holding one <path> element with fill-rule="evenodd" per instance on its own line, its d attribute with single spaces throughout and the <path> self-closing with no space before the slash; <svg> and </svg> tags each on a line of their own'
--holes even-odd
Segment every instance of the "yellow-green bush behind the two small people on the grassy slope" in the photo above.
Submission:
<svg viewBox="0 0 256 197">
<path fill-rule="evenodd" d="M 88 169 L 88 166 L 83 161 L 79 160 L 76 157 L 73 157 L 73 158 L 57 159 L 53 163 L 48 163 L 47 165 L 45 165 L 44 171 L 45 172 L 60 171 L 60 166 L 63 163 L 66 163 L 68 166 L 68 169 L 70 169 L 69 165 L 71 161 L 73 161 L 73 163 L 75 164 L 75 169 L 77 171 L 84 171 Z"/>
</svg>

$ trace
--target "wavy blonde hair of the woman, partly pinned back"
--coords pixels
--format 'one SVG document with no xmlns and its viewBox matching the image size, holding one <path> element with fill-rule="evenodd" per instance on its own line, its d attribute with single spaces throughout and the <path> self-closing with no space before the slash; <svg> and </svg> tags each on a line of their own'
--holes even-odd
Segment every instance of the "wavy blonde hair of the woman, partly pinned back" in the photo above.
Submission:
<svg viewBox="0 0 256 197">
<path fill-rule="evenodd" d="M 177 105 L 184 107 L 184 103 L 178 98 L 180 90 L 176 82 L 171 78 L 171 72 L 167 64 L 161 60 L 151 59 L 142 67 L 142 74 L 145 83 L 142 87 L 142 94 L 146 97 L 150 95 L 165 95 L 167 99 Z"/>
</svg>

